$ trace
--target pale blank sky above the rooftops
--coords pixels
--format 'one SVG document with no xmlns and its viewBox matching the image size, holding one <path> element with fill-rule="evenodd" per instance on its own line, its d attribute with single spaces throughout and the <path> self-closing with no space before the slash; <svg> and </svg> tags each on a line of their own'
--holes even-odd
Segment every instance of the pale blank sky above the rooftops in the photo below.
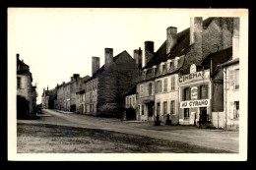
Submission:
<svg viewBox="0 0 256 170">
<path fill-rule="evenodd" d="M 9 8 L 8 60 L 16 54 L 30 66 L 32 85 L 41 102 L 43 88 L 69 82 L 73 74 L 92 76 L 92 57 L 104 64 L 104 48 L 113 55 L 155 42 L 155 52 L 166 39 L 166 28 L 189 28 L 193 10 Z M 206 13 L 196 15 L 208 18 Z M 144 54 L 143 54 L 144 64 Z M 15 67 L 15 66 L 14 66 Z"/>
</svg>

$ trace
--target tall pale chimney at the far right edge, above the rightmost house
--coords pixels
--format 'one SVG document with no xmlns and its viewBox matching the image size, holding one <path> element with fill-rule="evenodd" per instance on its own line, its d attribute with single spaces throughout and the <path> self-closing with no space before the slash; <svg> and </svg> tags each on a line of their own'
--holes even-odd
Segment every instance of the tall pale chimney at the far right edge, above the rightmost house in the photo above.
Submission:
<svg viewBox="0 0 256 170">
<path fill-rule="evenodd" d="M 233 18 L 232 59 L 239 58 L 240 20 Z"/>
</svg>

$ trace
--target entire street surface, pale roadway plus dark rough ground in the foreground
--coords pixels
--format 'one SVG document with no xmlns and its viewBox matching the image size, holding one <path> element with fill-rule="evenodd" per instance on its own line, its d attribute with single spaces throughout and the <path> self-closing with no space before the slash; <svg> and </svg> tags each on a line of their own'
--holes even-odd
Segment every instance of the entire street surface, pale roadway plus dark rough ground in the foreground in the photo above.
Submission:
<svg viewBox="0 0 256 170">
<path fill-rule="evenodd" d="M 43 109 L 37 120 L 18 120 L 18 152 L 237 153 L 238 131 L 154 126 Z"/>
</svg>

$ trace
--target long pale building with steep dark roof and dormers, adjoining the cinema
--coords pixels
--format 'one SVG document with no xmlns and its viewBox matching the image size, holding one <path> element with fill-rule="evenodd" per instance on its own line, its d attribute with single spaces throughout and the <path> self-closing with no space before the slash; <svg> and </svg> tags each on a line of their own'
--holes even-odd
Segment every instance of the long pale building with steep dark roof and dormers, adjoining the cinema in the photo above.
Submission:
<svg viewBox="0 0 256 170">
<path fill-rule="evenodd" d="M 148 53 L 145 52 L 146 66 L 137 81 L 137 119 L 155 120 L 159 115 L 165 122 L 169 115 L 172 124 L 182 122 L 184 116 L 190 119 L 191 109 L 180 108 L 182 92 L 177 83 L 182 76 L 190 74 L 192 64 L 202 71 L 201 64 L 207 56 L 231 47 L 232 31 L 233 18 L 203 21 L 195 17 L 190 20 L 190 28 L 179 33 L 174 27 L 167 28 L 166 40 L 156 53 L 154 49 L 147 50 L 152 45 L 145 42 Z"/>
</svg>

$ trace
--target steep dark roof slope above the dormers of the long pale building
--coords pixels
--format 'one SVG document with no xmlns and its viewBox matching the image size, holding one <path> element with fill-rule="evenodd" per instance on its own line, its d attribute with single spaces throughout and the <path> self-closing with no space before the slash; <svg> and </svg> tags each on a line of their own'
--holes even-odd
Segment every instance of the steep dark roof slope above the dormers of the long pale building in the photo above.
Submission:
<svg viewBox="0 0 256 170">
<path fill-rule="evenodd" d="M 203 21 L 203 27 L 207 28 L 210 26 L 212 21 L 216 18 L 208 18 Z M 153 58 L 147 63 L 143 69 L 151 68 L 154 65 L 159 65 L 161 62 L 165 62 L 168 59 L 174 59 L 177 56 L 182 56 L 190 48 L 190 28 L 186 28 L 183 31 L 177 33 L 177 43 L 173 46 L 171 51 L 166 54 L 166 40 L 161 44 L 158 51 L 155 53 Z"/>
</svg>

